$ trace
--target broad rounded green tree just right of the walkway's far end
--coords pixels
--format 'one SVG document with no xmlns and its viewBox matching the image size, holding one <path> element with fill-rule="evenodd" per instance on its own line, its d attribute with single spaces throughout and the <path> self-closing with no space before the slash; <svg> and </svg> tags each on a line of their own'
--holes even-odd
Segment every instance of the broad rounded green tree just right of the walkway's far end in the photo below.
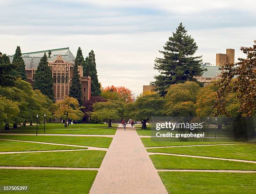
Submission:
<svg viewBox="0 0 256 194">
<path fill-rule="evenodd" d="M 151 117 L 163 116 L 166 100 L 157 93 L 141 94 L 135 102 L 126 105 L 125 117 L 140 120 L 142 129 L 146 129 L 146 123 Z"/>
</svg>

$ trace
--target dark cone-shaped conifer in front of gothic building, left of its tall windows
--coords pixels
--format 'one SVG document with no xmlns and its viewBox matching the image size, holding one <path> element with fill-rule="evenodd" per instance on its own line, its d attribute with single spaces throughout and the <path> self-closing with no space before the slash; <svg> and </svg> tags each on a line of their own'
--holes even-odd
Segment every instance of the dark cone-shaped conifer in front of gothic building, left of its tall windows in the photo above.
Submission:
<svg viewBox="0 0 256 194">
<path fill-rule="evenodd" d="M 44 56 L 40 59 L 36 69 L 34 89 L 40 90 L 42 94 L 54 100 L 51 67 L 48 66 L 46 53 L 44 53 Z"/>
</svg>

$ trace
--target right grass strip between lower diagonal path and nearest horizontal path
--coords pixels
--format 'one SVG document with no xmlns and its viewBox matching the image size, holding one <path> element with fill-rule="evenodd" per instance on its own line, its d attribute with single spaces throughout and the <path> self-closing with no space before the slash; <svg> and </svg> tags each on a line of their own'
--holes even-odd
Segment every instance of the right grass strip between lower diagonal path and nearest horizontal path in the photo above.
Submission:
<svg viewBox="0 0 256 194">
<path fill-rule="evenodd" d="M 256 163 L 223 161 L 182 156 L 150 155 L 156 169 L 253 170 Z"/>
</svg>

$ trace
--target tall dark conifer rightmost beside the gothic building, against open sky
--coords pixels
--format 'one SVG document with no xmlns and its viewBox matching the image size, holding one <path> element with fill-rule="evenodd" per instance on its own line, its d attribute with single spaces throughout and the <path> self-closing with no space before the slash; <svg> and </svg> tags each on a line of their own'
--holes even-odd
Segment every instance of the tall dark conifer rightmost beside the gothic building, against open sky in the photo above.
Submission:
<svg viewBox="0 0 256 194">
<path fill-rule="evenodd" d="M 83 64 L 83 76 L 91 77 L 92 96 L 100 96 L 100 83 L 97 76 L 94 51 L 90 51 Z"/>
</svg>

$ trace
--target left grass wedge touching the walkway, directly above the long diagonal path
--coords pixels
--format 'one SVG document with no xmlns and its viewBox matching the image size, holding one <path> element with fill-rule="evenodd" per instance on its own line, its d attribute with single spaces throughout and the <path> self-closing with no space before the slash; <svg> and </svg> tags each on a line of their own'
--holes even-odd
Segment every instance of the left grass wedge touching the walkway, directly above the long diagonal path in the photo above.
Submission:
<svg viewBox="0 0 256 194">
<path fill-rule="evenodd" d="M 40 141 L 47 143 L 62 143 L 108 148 L 113 138 L 106 137 L 77 137 L 77 136 L 34 136 L 34 135 L 0 135 L 0 139 Z"/>
</svg>

